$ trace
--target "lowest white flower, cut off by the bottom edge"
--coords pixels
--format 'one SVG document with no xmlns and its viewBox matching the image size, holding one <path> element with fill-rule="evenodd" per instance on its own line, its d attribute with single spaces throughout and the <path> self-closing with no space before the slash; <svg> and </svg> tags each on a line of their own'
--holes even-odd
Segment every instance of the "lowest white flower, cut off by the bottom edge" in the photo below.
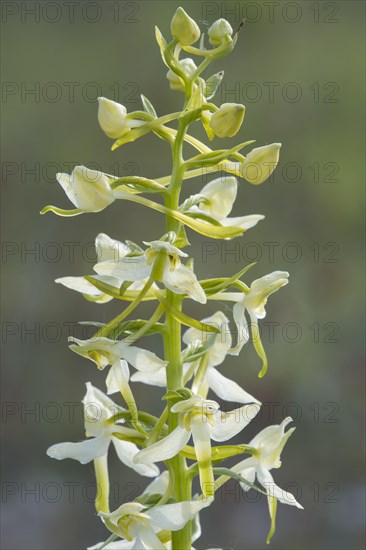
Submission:
<svg viewBox="0 0 366 550">
<path fill-rule="evenodd" d="M 126 545 L 112 548 L 166 550 L 167 546 L 158 537 L 159 531 L 179 531 L 211 503 L 212 499 L 187 500 L 146 509 L 138 502 L 127 502 L 114 512 L 100 512 L 99 515 L 108 521 L 108 527 L 115 534 L 129 541 Z"/>
</svg>

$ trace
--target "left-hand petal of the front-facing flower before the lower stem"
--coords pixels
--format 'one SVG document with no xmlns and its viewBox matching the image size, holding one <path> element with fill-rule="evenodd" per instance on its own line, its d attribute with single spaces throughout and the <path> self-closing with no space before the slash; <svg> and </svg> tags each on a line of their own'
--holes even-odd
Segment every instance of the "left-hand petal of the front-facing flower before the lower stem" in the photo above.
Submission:
<svg viewBox="0 0 366 550">
<path fill-rule="evenodd" d="M 134 458 L 136 464 L 148 464 L 173 458 L 187 445 L 191 432 L 177 426 L 169 435 L 157 443 L 142 449 Z"/>
</svg>

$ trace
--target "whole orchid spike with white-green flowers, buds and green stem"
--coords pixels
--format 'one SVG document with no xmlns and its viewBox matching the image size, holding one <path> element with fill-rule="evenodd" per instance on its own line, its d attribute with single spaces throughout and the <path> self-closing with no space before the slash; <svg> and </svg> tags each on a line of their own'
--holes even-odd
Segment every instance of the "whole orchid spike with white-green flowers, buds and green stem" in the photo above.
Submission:
<svg viewBox="0 0 366 550">
<path fill-rule="evenodd" d="M 210 101 L 223 72 L 207 80 L 200 76 L 212 61 L 232 51 L 238 33 L 233 33 L 228 21 L 219 19 L 208 30 L 212 48 L 206 48 L 198 25 L 182 8 L 172 19 L 171 32 L 170 43 L 158 29 L 156 37 L 169 69 L 171 89 L 185 93 L 182 112 L 158 117 L 150 101 L 142 96 L 143 110 L 127 113 L 123 105 L 102 97 L 98 121 L 104 133 L 115 140 L 112 149 L 149 132 L 164 139 L 173 151 L 172 174 L 157 179 L 118 178 L 77 166 L 71 175 L 57 174 L 75 209 L 47 206 L 42 211 L 73 216 L 100 212 L 115 200 L 123 200 L 152 208 L 167 219 L 167 232 L 160 239 L 144 242 L 144 248 L 99 234 L 94 273 L 56 280 L 91 302 L 128 303 L 115 319 L 100 324 L 91 339 L 69 338 L 71 350 L 93 361 L 98 369 L 107 369 L 106 393 L 88 382 L 83 399 L 86 439 L 58 443 L 47 451 L 59 460 L 72 458 L 81 464 L 94 461 L 99 487 L 96 508 L 111 533 L 105 543 L 92 547 L 95 549 L 191 548 L 201 533 L 199 512 L 213 504 L 216 490 L 230 478 L 236 479 L 244 491 L 254 489 L 267 496 L 272 520 L 268 541 L 275 528 L 277 501 L 301 508 L 293 495 L 276 485 L 271 474 L 272 469 L 280 467 L 282 449 L 294 431 L 286 431 L 291 418 L 263 429 L 248 443 L 216 445 L 239 434 L 260 411 L 260 401 L 227 378 L 221 367 L 227 355 L 239 355 L 251 341 L 261 360 L 259 376 L 265 374 L 267 357 L 259 319 L 266 315 L 269 295 L 286 285 L 289 275 L 274 271 L 248 286 L 242 278 L 250 265 L 234 276 L 200 280 L 192 260 L 182 250 L 189 245 L 187 228 L 211 238 L 232 239 L 264 218 L 260 214 L 230 217 L 238 191 L 237 177 L 254 185 L 265 181 L 278 163 L 280 144 L 258 147 L 244 156 L 240 150 L 252 141 L 213 150 L 188 134 L 189 125 L 195 121 L 203 124 L 210 140 L 233 137 L 242 126 L 243 105 L 224 103 L 217 107 Z M 198 40 L 199 47 L 194 47 Z M 180 58 L 182 52 L 203 60 L 197 66 L 191 57 Z M 178 129 L 168 125 L 174 121 Z M 184 160 L 186 144 L 197 154 Z M 220 174 L 198 194 L 181 201 L 184 181 L 207 172 Z M 160 194 L 164 204 L 143 194 Z M 183 301 L 189 299 L 199 304 L 209 300 L 232 303 L 235 338 L 231 322 L 222 311 L 201 321 L 183 312 Z M 127 320 L 142 301 L 155 304 L 151 317 Z M 164 322 L 160 322 L 163 317 Z M 188 328 L 181 340 L 182 325 Z M 163 337 L 164 358 L 134 345 L 150 334 Z M 160 418 L 140 409 L 133 392 L 135 382 L 166 388 L 167 405 Z M 208 399 L 210 390 L 221 400 L 240 406 L 221 411 L 216 401 Z M 116 393 L 121 394 L 123 405 L 109 397 Z M 113 511 L 108 499 L 111 443 L 124 466 L 154 478 L 141 496 Z M 231 468 L 221 466 L 225 459 L 243 453 L 250 456 Z M 167 469 L 161 472 L 157 463 L 164 463 Z M 192 496 L 191 484 L 196 476 L 201 494 Z"/>
</svg>

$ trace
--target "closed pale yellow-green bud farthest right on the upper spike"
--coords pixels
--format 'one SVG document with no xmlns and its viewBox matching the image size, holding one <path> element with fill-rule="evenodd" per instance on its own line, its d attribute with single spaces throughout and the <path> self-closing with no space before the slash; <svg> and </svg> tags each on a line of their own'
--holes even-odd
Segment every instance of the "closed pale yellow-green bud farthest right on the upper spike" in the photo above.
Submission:
<svg viewBox="0 0 366 550">
<path fill-rule="evenodd" d="M 253 185 L 263 183 L 276 168 L 280 149 L 281 143 L 272 143 L 252 149 L 241 167 L 243 178 Z"/>
</svg>

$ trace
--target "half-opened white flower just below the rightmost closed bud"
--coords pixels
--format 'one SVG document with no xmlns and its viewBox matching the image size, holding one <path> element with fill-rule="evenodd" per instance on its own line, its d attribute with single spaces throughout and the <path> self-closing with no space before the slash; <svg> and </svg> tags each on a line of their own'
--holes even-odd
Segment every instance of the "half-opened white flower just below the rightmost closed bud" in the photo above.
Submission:
<svg viewBox="0 0 366 550">
<path fill-rule="evenodd" d="M 264 216 L 252 214 L 228 218 L 238 190 L 238 182 L 233 176 L 224 176 L 210 181 L 197 195 L 198 206 L 192 206 L 188 212 L 207 214 L 223 226 L 235 226 L 242 229 L 254 227 Z M 202 200 L 199 200 L 202 197 Z M 194 198 L 194 197 L 191 197 Z"/>
</svg>

